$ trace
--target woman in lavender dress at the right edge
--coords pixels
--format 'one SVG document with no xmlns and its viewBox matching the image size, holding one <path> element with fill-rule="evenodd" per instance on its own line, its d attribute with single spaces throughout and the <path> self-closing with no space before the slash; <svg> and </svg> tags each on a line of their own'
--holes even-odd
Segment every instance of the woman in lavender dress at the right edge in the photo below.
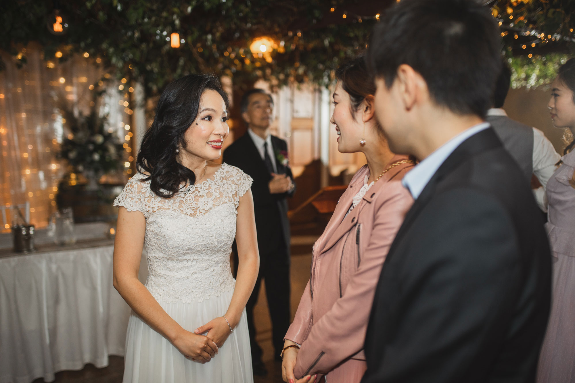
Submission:
<svg viewBox="0 0 575 383">
<path fill-rule="evenodd" d="M 549 101 L 553 125 L 575 133 L 575 59 L 559 69 Z M 575 141 L 547 183 L 553 254 L 553 300 L 539 359 L 538 383 L 575 383 Z"/>
</svg>

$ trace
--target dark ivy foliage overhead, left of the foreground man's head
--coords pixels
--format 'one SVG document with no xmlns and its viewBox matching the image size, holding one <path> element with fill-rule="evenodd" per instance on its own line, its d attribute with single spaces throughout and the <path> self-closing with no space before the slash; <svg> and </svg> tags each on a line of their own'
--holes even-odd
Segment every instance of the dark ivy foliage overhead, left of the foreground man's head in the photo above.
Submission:
<svg viewBox="0 0 575 383">
<path fill-rule="evenodd" d="M 229 75 L 237 85 L 258 78 L 277 85 L 290 81 L 329 81 L 331 70 L 365 48 L 375 15 L 350 14 L 344 23 L 326 22 L 342 15 L 339 0 L 86 0 L 60 2 L 66 35 L 47 28 L 51 1 L 16 0 L 0 7 L 0 49 L 18 55 L 29 41 L 44 47 L 46 59 L 60 60 L 87 52 L 113 67 L 118 78 L 140 80 L 147 96 L 187 73 Z M 330 8 L 336 9 L 331 12 Z M 342 17 L 342 16 L 339 16 Z M 333 17 L 332 17 L 333 19 Z M 167 37 L 185 42 L 171 48 Z M 277 49 L 254 55 L 249 47 L 260 36 Z M 260 57 L 261 56 L 261 57 Z M 267 60 L 266 60 L 267 58 Z"/>
</svg>

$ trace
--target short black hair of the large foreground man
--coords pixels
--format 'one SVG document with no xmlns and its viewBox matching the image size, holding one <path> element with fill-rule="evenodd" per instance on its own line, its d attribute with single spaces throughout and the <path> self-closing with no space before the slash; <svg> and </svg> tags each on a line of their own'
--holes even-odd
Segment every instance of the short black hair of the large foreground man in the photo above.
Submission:
<svg viewBox="0 0 575 383">
<path fill-rule="evenodd" d="M 402 0 L 375 26 L 367 64 L 388 87 L 408 64 L 437 104 L 485 117 L 501 71 L 499 33 L 477 0 Z"/>
</svg>

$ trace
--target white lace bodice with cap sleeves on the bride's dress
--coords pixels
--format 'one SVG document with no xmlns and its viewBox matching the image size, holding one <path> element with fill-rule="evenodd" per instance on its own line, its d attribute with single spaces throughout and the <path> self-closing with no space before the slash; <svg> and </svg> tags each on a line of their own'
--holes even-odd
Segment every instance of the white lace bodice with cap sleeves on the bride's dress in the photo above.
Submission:
<svg viewBox="0 0 575 383">
<path fill-rule="evenodd" d="M 229 254 L 236 235 L 239 199 L 252 178 L 224 163 L 213 179 L 162 198 L 137 173 L 114 200 L 114 206 L 138 210 L 146 219 L 145 283 L 156 300 L 201 302 L 233 289 Z"/>
</svg>

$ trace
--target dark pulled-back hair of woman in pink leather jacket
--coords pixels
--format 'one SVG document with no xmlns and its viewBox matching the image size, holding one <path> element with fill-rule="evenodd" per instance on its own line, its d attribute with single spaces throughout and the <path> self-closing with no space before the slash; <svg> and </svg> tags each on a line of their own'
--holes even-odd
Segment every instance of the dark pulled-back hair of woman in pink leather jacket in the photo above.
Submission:
<svg viewBox="0 0 575 383">
<path fill-rule="evenodd" d="M 342 88 L 350 95 L 351 115 L 355 120 L 355 113 L 358 112 L 359 106 L 369 96 L 375 95 L 375 82 L 373 76 L 367 70 L 367 64 L 363 53 L 360 53 L 354 59 L 343 63 L 335 71 L 335 78 L 342 83 Z M 384 136 L 384 132 L 374 117 L 377 133 Z"/>
</svg>

